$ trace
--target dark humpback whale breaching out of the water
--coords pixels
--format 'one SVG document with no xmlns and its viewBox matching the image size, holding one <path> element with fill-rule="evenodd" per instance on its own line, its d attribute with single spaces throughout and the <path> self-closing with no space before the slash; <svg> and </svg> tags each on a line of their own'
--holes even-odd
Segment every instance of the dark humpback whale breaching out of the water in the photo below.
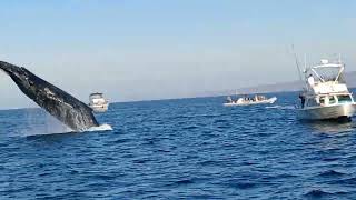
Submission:
<svg viewBox="0 0 356 200">
<path fill-rule="evenodd" d="M 99 127 L 90 107 L 26 68 L 0 61 L 0 69 L 27 97 L 73 131 Z"/>
</svg>

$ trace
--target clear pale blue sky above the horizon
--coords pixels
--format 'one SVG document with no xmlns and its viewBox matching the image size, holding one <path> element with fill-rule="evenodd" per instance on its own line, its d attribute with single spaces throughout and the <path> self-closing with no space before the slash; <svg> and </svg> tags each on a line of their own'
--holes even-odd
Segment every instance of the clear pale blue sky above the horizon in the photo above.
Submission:
<svg viewBox="0 0 356 200">
<path fill-rule="evenodd" d="M 196 97 L 298 79 L 342 53 L 356 71 L 353 0 L 0 1 L 0 60 L 83 102 Z M 0 108 L 32 107 L 0 72 Z"/>
</svg>

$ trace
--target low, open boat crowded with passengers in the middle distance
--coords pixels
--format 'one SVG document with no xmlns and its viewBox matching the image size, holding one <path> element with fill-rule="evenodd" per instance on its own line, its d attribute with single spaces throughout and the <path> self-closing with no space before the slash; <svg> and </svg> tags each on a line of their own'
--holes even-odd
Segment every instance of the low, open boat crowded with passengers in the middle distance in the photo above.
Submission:
<svg viewBox="0 0 356 200">
<path fill-rule="evenodd" d="M 265 96 L 255 96 L 255 98 L 243 97 L 237 100 L 233 100 L 231 97 L 227 98 L 227 102 L 224 103 L 225 107 L 236 107 L 236 106 L 250 106 L 250 104 L 271 104 L 277 101 L 276 97 L 267 99 Z"/>
</svg>

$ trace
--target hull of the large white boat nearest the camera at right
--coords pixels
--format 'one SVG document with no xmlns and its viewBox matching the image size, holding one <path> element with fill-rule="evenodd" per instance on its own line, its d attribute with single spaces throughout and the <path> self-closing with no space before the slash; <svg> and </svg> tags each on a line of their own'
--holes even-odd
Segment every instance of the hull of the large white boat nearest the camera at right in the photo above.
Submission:
<svg viewBox="0 0 356 200">
<path fill-rule="evenodd" d="M 356 111 L 355 103 L 335 104 L 329 107 L 315 107 L 299 109 L 297 116 L 301 120 L 333 120 L 350 119 Z"/>
</svg>

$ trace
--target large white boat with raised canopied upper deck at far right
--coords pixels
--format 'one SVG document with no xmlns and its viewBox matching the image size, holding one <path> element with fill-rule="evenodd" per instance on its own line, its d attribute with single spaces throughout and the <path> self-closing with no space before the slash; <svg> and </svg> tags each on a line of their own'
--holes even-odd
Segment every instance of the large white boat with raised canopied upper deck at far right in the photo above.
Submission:
<svg viewBox="0 0 356 200">
<path fill-rule="evenodd" d="M 297 116 L 303 120 L 350 120 L 355 101 L 343 80 L 345 64 L 322 60 L 304 70 L 305 87 L 300 93 Z"/>
</svg>

